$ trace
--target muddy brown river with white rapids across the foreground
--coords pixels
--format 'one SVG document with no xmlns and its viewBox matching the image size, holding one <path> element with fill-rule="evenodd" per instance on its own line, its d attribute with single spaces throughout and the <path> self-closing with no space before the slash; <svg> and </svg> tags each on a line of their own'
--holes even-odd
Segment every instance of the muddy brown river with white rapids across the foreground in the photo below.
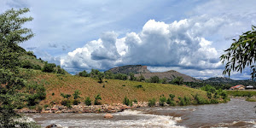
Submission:
<svg viewBox="0 0 256 128">
<path fill-rule="evenodd" d="M 112 113 L 26 113 L 43 127 L 60 124 L 65 127 L 256 127 L 255 102 L 232 98 L 230 102 L 185 106 L 135 108 Z"/>
</svg>

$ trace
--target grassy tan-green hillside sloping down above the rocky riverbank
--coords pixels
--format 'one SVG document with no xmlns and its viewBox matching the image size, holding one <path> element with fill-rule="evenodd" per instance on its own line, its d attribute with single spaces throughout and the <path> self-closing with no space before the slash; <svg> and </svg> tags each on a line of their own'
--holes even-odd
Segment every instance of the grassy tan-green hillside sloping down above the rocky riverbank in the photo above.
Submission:
<svg viewBox="0 0 256 128">
<path fill-rule="evenodd" d="M 80 90 L 80 100 L 82 102 L 84 102 L 87 96 L 90 96 L 90 99 L 94 99 L 96 94 L 101 94 L 102 103 L 108 104 L 122 102 L 125 96 L 131 100 L 137 99 L 138 102 L 148 102 L 153 97 L 158 100 L 160 95 L 167 97 L 169 94 L 175 95 L 175 100 L 177 100 L 178 96 L 189 96 L 192 98 L 191 94 L 207 97 L 205 91 L 172 84 L 153 84 L 116 79 L 104 79 L 104 82 L 99 84 L 96 79 L 92 78 L 43 73 L 36 70 L 30 70 L 29 73 L 26 71 L 26 74 L 30 74 L 32 77 L 28 81 L 37 81 L 40 84 L 44 84 L 46 99 L 40 104 L 48 104 L 49 102 L 60 103 L 63 100 L 63 97 L 60 96 L 61 93 L 72 95 L 74 90 Z"/>
</svg>

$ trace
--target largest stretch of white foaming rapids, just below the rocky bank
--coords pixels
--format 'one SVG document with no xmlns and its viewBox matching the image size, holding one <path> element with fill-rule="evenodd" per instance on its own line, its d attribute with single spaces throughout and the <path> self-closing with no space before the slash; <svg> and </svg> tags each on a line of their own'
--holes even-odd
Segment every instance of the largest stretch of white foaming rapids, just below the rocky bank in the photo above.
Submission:
<svg viewBox="0 0 256 128">
<path fill-rule="evenodd" d="M 99 118 L 90 119 L 47 119 L 42 122 L 43 124 L 61 124 L 63 126 L 75 126 L 75 127 L 161 127 L 161 128 L 183 128 L 178 126 L 177 121 L 182 120 L 180 117 L 172 117 L 166 115 L 154 115 L 145 114 L 137 110 L 125 110 L 120 113 L 113 114 L 113 119 L 104 119 L 102 113 L 96 114 L 101 115 Z M 80 117 L 80 115 L 79 115 Z"/>
</svg>

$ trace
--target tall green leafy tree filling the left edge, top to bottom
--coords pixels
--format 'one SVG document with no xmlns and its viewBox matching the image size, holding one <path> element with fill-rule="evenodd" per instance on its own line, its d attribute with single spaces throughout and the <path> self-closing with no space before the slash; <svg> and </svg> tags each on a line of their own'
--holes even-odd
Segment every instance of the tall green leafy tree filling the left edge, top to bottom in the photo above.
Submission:
<svg viewBox="0 0 256 128">
<path fill-rule="evenodd" d="M 22 25 L 32 17 L 20 17 L 29 9 L 9 9 L 0 15 L 0 127 L 32 127 L 15 121 L 20 115 L 14 108 L 22 100 L 18 93 L 25 86 L 19 77 L 19 57 L 25 52 L 18 44 L 33 37 L 31 29 Z"/>
</svg>

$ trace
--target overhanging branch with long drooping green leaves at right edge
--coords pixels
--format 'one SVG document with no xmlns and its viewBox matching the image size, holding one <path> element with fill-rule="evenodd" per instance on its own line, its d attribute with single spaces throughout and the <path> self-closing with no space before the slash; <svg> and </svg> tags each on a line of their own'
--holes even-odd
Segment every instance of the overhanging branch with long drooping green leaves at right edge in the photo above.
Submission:
<svg viewBox="0 0 256 128">
<path fill-rule="evenodd" d="M 256 26 L 252 26 L 252 31 L 243 33 L 238 40 L 231 44 L 229 49 L 225 49 L 224 55 L 220 56 L 222 63 L 225 65 L 223 74 L 230 72 L 242 72 L 245 67 L 251 68 L 251 77 L 256 77 Z"/>
</svg>

